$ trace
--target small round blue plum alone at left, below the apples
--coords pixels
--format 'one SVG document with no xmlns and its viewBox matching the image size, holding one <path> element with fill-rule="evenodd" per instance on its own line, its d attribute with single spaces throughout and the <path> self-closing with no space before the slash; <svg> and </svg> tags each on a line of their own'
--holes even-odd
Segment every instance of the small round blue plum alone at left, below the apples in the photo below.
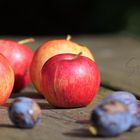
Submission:
<svg viewBox="0 0 140 140">
<path fill-rule="evenodd" d="M 32 99 L 16 98 L 8 110 L 9 117 L 16 127 L 32 128 L 41 118 L 41 109 Z"/>
</svg>

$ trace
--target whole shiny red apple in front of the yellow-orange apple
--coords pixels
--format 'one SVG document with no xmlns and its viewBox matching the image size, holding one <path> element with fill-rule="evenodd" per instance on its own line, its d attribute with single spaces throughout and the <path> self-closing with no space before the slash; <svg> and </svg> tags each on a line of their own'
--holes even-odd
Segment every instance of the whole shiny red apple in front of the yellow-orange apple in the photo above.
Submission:
<svg viewBox="0 0 140 140">
<path fill-rule="evenodd" d="M 58 54 L 43 66 L 41 90 L 58 108 L 84 107 L 100 86 L 98 67 L 91 59 L 75 54 Z"/>
</svg>

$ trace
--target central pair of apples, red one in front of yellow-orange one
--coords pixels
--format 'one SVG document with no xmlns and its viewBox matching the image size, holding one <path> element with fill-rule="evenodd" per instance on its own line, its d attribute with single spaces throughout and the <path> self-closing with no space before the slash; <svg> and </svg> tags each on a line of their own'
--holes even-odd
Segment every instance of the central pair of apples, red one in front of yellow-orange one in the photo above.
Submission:
<svg viewBox="0 0 140 140">
<path fill-rule="evenodd" d="M 88 105 L 100 86 L 100 73 L 92 53 L 69 37 L 38 47 L 30 76 L 38 92 L 58 108 Z"/>
</svg>

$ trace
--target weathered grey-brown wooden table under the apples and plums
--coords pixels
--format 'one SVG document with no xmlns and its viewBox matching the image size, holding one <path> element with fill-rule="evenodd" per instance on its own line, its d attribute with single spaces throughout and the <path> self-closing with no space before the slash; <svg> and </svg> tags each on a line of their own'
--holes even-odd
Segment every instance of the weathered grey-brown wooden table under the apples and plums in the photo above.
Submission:
<svg viewBox="0 0 140 140">
<path fill-rule="evenodd" d="M 20 40 L 25 37 L 1 37 Z M 35 50 L 42 42 L 63 37 L 35 37 L 36 43 L 29 44 Z M 55 109 L 37 93 L 32 85 L 21 93 L 13 94 L 0 107 L 1 140 L 81 140 L 115 139 L 138 140 L 140 128 L 114 138 L 93 137 L 87 130 L 91 110 L 114 90 L 127 90 L 140 97 L 140 39 L 128 35 L 73 36 L 73 40 L 87 45 L 93 52 L 101 72 L 101 87 L 93 102 L 84 108 Z M 33 129 L 18 129 L 10 122 L 8 105 L 18 96 L 35 99 L 42 109 L 42 122 Z"/>
</svg>

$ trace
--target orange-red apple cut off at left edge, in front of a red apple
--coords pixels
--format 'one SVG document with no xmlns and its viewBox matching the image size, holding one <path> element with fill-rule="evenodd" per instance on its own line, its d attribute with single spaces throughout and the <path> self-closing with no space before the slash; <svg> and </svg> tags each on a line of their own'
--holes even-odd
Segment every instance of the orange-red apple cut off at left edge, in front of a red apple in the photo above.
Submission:
<svg viewBox="0 0 140 140">
<path fill-rule="evenodd" d="M 14 71 L 6 57 L 0 54 L 0 105 L 11 95 L 14 86 Z"/>
</svg>

